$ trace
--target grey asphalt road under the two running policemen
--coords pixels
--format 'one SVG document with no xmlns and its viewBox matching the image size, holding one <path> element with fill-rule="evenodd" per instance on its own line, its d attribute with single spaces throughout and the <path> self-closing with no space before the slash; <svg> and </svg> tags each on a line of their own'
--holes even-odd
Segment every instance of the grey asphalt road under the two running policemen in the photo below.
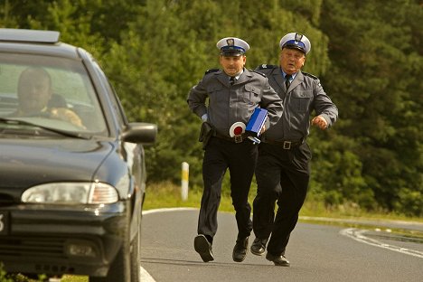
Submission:
<svg viewBox="0 0 423 282">
<path fill-rule="evenodd" d="M 198 210 L 146 211 L 143 281 L 423 281 L 423 244 L 389 232 L 299 222 L 287 246 L 290 268 L 248 253 L 231 258 L 237 236 L 234 214 L 219 213 L 213 262 L 193 249 Z M 253 240 L 250 238 L 250 243 Z"/>
</svg>

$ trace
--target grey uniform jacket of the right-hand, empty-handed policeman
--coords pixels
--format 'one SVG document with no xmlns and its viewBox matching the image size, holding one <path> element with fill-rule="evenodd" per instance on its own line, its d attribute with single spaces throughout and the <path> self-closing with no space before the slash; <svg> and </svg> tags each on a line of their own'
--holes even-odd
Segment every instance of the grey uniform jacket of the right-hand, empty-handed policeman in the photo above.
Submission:
<svg viewBox="0 0 423 282">
<path fill-rule="evenodd" d="M 298 71 L 289 89 L 279 66 L 260 65 L 258 71 L 265 73 L 271 87 L 277 91 L 284 103 L 284 113 L 274 127 L 263 136 L 272 140 L 296 141 L 305 138 L 310 130 L 310 115 L 322 115 L 328 127 L 338 118 L 338 108 L 324 92 L 320 80 L 315 76 Z"/>
</svg>

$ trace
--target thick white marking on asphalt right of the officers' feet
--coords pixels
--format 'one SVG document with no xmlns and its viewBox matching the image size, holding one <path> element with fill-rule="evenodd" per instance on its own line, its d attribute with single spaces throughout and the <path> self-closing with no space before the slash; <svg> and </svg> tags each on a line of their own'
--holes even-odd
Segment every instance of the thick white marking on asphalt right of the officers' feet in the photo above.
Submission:
<svg viewBox="0 0 423 282">
<path fill-rule="evenodd" d="M 397 251 L 397 252 L 400 252 L 400 253 L 403 253 L 403 254 L 406 254 L 406 255 L 409 255 L 409 256 L 423 258 L 423 252 L 422 251 L 418 251 L 416 249 L 401 248 L 401 247 L 398 247 L 398 246 L 382 243 L 381 241 L 374 240 L 374 239 L 371 239 L 371 238 L 364 236 L 363 233 L 365 231 L 366 230 L 358 230 L 358 229 L 355 229 L 355 228 L 347 228 L 347 229 L 341 230 L 339 232 L 344 236 L 347 236 L 349 238 L 352 238 L 353 240 L 362 242 L 364 244 L 379 247 L 379 248 L 382 248 L 382 249 L 390 249 L 390 250 Z"/>
</svg>

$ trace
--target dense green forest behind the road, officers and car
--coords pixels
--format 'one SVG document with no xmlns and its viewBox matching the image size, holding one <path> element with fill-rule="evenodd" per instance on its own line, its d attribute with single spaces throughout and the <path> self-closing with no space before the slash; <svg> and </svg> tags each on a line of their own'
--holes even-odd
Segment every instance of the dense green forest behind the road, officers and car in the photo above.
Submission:
<svg viewBox="0 0 423 282">
<path fill-rule="evenodd" d="M 311 129 L 309 195 L 327 207 L 423 216 L 423 2 L 421 0 L 0 0 L 0 27 L 56 30 L 99 60 L 130 121 L 157 124 L 146 147 L 148 182 L 202 190 L 200 118 L 186 104 L 216 42 L 249 42 L 247 67 L 278 63 L 286 33 L 311 41 L 303 71 L 339 108 Z M 229 181 L 223 192 L 229 194 Z"/>
</svg>

